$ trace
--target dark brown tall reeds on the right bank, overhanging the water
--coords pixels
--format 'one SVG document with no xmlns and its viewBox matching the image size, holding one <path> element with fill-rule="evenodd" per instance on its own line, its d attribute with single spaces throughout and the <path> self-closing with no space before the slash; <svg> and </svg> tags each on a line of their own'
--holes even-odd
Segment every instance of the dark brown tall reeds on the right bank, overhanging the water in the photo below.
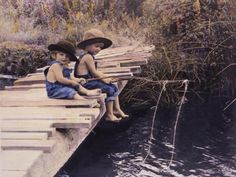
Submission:
<svg viewBox="0 0 236 177">
<path fill-rule="evenodd" d="M 146 1 L 144 16 L 150 27 L 146 34 L 155 50 L 142 76 L 188 79 L 188 91 L 201 99 L 235 96 L 235 10 L 235 1 Z M 124 96 L 131 95 L 129 100 L 140 102 L 155 101 L 160 89 L 161 85 L 135 81 Z M 168 84 L 166 89 L 162 101 L 178 103 L 183 93 L 181 83 Z"/>
</svg>

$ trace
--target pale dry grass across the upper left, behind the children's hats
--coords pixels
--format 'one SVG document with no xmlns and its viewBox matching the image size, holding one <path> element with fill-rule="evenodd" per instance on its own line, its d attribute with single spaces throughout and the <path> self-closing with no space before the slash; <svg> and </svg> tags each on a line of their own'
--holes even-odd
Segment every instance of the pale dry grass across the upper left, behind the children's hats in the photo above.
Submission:
<svg viewBox="0 0 236 177">
<path fill-rule="evenodd" d="M 140 40 L 139 18 L 128 14 L 121 3 L 107 3 L 93 0 L 0 2 L 0 41 L 37 45 L 46 45 L 61 38 L 78 41 L 83 32 L 91 27 L 107 32 L 109 37 L 114 38 L 116 45 L 129 41 L 126 38 Z M 132 11 L 129 9 L 129 12 Z M 137 34 L 140 34 L 139 37 Z M 118 40 L 117 35 L 123 41 Z"/>
</svg>

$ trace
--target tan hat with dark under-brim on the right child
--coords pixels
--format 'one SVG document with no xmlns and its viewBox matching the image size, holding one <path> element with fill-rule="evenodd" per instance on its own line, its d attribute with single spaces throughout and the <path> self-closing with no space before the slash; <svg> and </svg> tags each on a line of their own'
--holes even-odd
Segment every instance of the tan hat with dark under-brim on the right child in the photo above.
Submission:
<svg viewBox="0 0 236 177">
<path fill-rule="evenodd" d="M 101 49 L 106 49 L 112 45 L 112 41 L 104 37 L 104 33 L 98 29 L 90 29 L 84 33 L 83 41 L 81 41 L 77 46 L 80 49 L 85 49 L 86 46 L 103 43 Z"/>
</svg>

